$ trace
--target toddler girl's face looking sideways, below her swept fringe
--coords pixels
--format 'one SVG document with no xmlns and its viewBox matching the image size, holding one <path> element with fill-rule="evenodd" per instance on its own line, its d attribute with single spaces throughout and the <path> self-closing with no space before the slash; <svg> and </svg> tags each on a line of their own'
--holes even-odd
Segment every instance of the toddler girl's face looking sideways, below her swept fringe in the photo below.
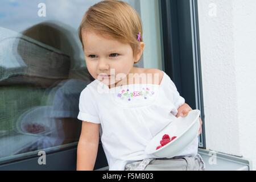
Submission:
<svg viewBox="0 0 256 182">
<path fill-rule="evenodd" d="M 130 44 L 100 36 L 92 31 L 82 32 L 82 42 L 90 75 L 109 86 L 123 80 L 128 73 L 133 73 L 134 61 L 137 61 L 134 59 L 141 56 L 139 52 L 138 56 L 133 57 Z M 111 76 L 107 78 L 99 76 L 102 73 Z"/>
</svg>

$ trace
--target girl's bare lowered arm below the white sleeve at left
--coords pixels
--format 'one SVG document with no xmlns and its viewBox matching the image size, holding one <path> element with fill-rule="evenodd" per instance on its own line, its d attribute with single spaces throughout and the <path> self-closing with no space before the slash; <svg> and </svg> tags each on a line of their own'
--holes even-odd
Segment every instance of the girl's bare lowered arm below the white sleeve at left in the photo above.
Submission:
<svg viewBox="0 0 256 182">
<path fill-rule="evenodd" d="M 82 122 L 82 130 L 77 146 L 77 171 L 92 171 L 96 162 L 100 124 Z"/>
</svg>

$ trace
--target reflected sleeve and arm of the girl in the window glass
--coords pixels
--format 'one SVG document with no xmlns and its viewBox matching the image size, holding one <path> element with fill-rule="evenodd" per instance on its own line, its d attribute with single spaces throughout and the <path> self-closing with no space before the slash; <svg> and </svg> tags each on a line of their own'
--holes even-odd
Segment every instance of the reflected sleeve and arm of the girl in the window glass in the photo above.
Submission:
<svg viewBox="0 0 256 182">
<path fill-rule="evenodd" d="M 53 99 L 52 112 L 49 117 L 56 118 L 56 133 L 51 136 L 59 144 L 76 142 L 79 139 L 81 123 L 77 121 L 79 113 L 79 96 L 88 82 L 71 79 L 60 83 Z M 60 85 L 59 84 L 59 85 Z"/>
</svg>

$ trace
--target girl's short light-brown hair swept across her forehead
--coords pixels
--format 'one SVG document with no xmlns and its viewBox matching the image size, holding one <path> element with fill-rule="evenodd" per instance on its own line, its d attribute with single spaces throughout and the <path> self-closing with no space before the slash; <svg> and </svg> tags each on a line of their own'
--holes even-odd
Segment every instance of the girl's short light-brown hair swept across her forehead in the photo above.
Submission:
<svg viewBox="0 0 256 182">
<path fill-rule="evenodd" d="M 79 38 L 82 43 L 82 31 L 92 30 L 102 36 L 129 43 L 133 49 L 133 57 L 139 51 L 138 34 L 142 23 L 136 10 L 128 3 L 116 0 L 106 0 L 91 6 L 82 17 L 79 27 Z M 84 49 L 84 44 L 82 43 Z"/>
</svg>

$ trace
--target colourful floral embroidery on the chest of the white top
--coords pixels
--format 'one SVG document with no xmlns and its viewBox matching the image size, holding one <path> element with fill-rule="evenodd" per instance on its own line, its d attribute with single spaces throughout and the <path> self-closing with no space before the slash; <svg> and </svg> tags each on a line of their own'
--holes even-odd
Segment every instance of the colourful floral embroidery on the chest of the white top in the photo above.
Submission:
<svg viewBox="0 0 256 182">
<path fill-rule="evenodd" d="M 149 88 L 142 88 L 142 91 L 134 91 L 134 92 L 129 92 L 129 89 L 122 90 L 121 93 L 117 94 L 117 97 L 121 98 L 121 100 L 123 99 L 127 99 L 128 101 L 131 101 L 131 98 L 133 97 L 144 97 L 144 99 L 147 99 L 148 96 L 152 96 L 155 92 L 150 91 Z"/>
</svg>

